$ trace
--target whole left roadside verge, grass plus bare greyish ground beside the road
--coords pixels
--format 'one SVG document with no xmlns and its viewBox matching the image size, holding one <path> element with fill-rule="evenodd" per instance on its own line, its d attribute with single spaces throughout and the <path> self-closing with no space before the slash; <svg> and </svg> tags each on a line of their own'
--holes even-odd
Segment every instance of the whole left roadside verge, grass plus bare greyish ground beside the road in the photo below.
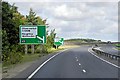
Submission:
<svg viewBox="0 0 120 80">
<path fill-rule="evenodd" d="M 21 62 L 18 62 L 16 64 L 6 64 L 6 65 L 2 65 L 1 64 L 1 69 L 2 69 L 2 76 L 4 78 L 6 77 L 14 77 L 15 75 L 17 75 L 18 73 L 21 72 L 21 70 L 23 71 L 24 69 L 26 69 L 27 67 L 29 67 L 32 63 L 34 63 L 35 61 L 37 61 L 38 59 L 40 59 L 42 56 L 48 55 L 48 54 L 52 54 L 52 53 L 56 53 L 59 52 L 60 50 L 64 50 L 64 49 L 68 49 L 68 48 L 74 48 L 77 46 L 60 46 L 58 49 L 55 48 L 50 48 L 48 49 L 48 53 L 40 53 L 40 49 L 38 49 L 37 53 L 31 54 L 28 53 L 27 55 L 22 55 L 22 60 Z M 17 53 L 16 53 L 17 54 Z M 22 53 L 21 53 L 22 54 Z M 14 58 L 14 57 L 13 57 Z M 5 64 L 5 63 L 4 63 Z M 17 73 L 16 73 L 17 72 Z"/>
</svg>

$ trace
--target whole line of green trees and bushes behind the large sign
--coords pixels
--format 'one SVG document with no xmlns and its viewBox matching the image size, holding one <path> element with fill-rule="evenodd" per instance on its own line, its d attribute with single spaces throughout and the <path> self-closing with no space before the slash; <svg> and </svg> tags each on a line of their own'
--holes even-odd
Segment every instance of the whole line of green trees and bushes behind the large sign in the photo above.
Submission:
<svg viewBox="0 0 120 80">
<path fill-rule="evenodd" d="M 10 5 L 8 2 L 2 2 L 2 61 L 7 64 L 16 64 L 20 62 L 25 55 L 25 45 L 19 44 L 19 26 L 20 25 L 46 25 L 46 19 L 37 16 L 30 8 L 28 15 L 22 15 L 15 4 Z M 48 34 L 50 32 L 50 34 Z M 48 53 L 48 49 L 54 47 L 55 29 L 46 31 L 47 42 L 41 45 L 41 53 Z M 39 45 L 33 45 L 35 52 Z M 31 48 L 28 45 L 28 52 Z"/>
</svg>

